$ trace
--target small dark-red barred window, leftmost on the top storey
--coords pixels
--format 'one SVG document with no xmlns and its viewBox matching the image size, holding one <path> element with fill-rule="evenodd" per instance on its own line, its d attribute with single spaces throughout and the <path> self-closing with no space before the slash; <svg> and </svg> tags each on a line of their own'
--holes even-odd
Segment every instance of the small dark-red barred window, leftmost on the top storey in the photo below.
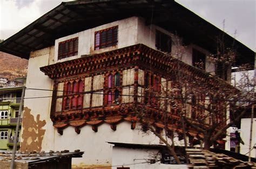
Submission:
<svg viewBox="0 0 256 169">
<path fill-rule="evenodd" d="M 69 39 L 59 43 L 58 60 L 78 54 L 78 38 Z"/>
</svg>

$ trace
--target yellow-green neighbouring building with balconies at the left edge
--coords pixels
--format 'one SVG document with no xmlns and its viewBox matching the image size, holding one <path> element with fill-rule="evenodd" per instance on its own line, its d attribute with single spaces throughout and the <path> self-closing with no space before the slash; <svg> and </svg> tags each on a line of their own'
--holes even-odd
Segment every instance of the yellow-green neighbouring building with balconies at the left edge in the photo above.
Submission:
<svg viewBox="0 0 256 169">
<path fill-rule="evenodd" d="M 18 110 L 25 78 L 19 78 L 19 81 L 20 86 L 0 88 L 0 150 L 11 150 L 14 146 Z M 21 123 L 22 118 L 18 125 L 21 126 Z M 21 141 L 20 131 L 18 133 L 18 147 Z"/>
</svg>

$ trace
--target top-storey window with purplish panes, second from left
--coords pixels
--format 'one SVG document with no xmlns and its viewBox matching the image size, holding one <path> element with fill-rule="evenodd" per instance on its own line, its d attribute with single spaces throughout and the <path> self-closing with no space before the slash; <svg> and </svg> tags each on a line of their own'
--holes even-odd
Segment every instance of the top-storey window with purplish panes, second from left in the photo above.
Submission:
<svg viewBox="0 0 256 169">
<path fill-rule="evenodd" d="M 95 32 L 95 50 L 117 45 L 118 26 Z"/>
</svg>

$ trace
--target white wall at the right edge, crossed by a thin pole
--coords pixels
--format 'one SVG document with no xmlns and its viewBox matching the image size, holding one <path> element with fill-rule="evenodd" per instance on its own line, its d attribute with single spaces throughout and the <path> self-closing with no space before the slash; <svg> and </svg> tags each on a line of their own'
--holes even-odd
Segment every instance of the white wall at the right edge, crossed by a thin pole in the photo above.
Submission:
<svg viewBox="0 0 256 169">
<path fill-rule="evenodd" d="M 252 147 L 256 146 L 256 118 L 253 118 L 252 127 Z M 251 130 L 251 118 L 241 119 L 241 132 L 240 137 L 244 141 L 245 145 L 240 144 L 240 153 L 249 155 L 249 145 L 250 145 L 250 130 Z M 252 148 L 251 147 L 251 148 Z M 256 158 L 256 149 L 251 151 L 251 157 Z"/>
</svg>

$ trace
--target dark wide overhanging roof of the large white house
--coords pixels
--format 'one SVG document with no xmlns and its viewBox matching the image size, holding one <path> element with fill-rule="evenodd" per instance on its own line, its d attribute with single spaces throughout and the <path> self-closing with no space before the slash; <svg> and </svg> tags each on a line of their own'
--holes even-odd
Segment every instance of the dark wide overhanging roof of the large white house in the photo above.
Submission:
<svg viewBox="0 0 256 169">
<path fill-rule="evenodd" d="M 214 52 L 216 37 L 224 32 L 174 0 L 84 0 L 63 2 L 23 30 L 4 40 L 0 51 L 28 59 L 31 51 L 54 45 L 55 39 L 131 16 L 146 23 L 177 32 L 188 43 Z M 153 17 L 152 17 L 153 16 Z M 151 18 L 152 17 L 152 18 Z M 225 34 L 227 44 L 235 44 L 238 64 L 254 63 L 254 52 Z"/>
</svg>

